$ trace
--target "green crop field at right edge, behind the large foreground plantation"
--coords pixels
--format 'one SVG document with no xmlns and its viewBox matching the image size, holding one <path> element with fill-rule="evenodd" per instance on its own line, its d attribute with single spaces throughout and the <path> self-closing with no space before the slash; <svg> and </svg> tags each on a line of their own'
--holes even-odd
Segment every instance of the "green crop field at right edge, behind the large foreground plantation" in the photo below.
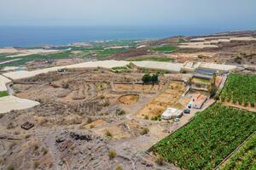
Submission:
<svg viewBox="0 0 256 170">
<path fill-rule="evenodd" d="M 251 107 L 255 106 L 256 100 L 256 76 L 230 74 L 220 96 L 224 102 L 232 102 Z"/>
</svg>

